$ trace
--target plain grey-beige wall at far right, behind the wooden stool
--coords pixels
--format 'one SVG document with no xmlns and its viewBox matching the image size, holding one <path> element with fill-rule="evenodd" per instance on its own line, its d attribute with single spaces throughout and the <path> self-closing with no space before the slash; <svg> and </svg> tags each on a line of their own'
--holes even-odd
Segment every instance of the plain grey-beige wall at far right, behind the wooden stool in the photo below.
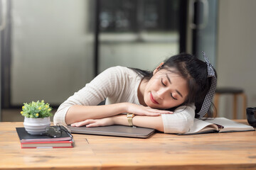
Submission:
<svg viewBox="0 0 256 170">
<path fill-rule="evenodd" d="M 256 106 L 255 8 L 255 0 L 219 1 L 218 86 L 244 89 L 247 106 Z M 219 113 L 230 115 L 232 98 L 225 96 L 225 99 L 221 102 Z"/>
</svg>

